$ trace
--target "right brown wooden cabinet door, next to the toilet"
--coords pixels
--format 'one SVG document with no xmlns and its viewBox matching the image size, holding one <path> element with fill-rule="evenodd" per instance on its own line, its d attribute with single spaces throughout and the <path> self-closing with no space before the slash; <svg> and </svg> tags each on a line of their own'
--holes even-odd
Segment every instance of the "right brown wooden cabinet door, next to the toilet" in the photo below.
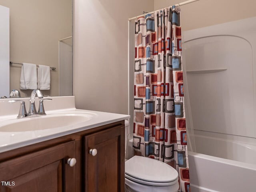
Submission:
<svg viewBox="0 0 256 192">
<path fill-rule="evenodd" d="M 85 136 L 85 191 L 124 192 L 124 126 Z"/>
</svg>

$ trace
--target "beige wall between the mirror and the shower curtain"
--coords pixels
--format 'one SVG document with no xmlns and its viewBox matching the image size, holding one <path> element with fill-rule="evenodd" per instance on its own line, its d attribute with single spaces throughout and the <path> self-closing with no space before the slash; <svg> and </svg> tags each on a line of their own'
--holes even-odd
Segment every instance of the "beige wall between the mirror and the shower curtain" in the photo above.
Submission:
<svg viewBox="0 0 256 192">
<path fill-rule="evenodd" d="M 128 113 L 128 18 L 153 9 L 153 0 L 74 0 L 77 108 Z"/>
</svg>

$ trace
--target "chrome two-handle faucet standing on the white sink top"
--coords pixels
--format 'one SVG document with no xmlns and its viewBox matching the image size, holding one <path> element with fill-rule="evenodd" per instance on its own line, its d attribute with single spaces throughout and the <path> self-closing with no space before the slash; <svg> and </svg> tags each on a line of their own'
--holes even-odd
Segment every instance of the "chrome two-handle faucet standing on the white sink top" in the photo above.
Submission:
<svg viewBox="0 0 256 192">
<path fill-rule="evenodd" d="M 44 111 L 44 100 L 52 100 L 52 99 L 41 99 L 39 101 L 39 106 L 38 106 L 38 111 L 36 111 L 36 106 L 35 106 L 35 99 L 36 96 L 38 96 L 38 98 L 44 98 L 44 95 L 42 94 L 42 92 L 39 89 L 34 89 L 31 93 L 30 96 L 30 109 L 27 113 L 26 111 L 26 106 L 25 106 L 25 102 L 23 100 L 10 100 L 10 103 L 16 103 L 16 102 L 20 102 L 20 111 L 19 114 L 17 116 L 17 118 L 25 118 L 25 117 L 37 117 L 37 116 L 42 116 L 42 115 L 46 115 L 45 111 Z"/>
</svg>

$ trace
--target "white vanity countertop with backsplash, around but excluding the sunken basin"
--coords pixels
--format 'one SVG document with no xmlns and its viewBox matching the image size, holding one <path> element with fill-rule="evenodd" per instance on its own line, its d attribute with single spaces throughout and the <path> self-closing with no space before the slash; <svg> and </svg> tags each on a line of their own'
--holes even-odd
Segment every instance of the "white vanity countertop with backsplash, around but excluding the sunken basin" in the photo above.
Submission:
<svg viewBox="0 0 256 192">
<path fill-rule="evenodd" d="M 107 112 L 98 112 L 90 110 L 80 110 L 75 108 L 75 97 L 74 96 L 62 96 L 62 97 L 47 97 L 51 98 L 52 101 L 44 102 L 44 109 L 46 111 L 46 116 L 16 119 L 18 115 L 20 104 L 18 103 L 9 103 L 10 99 L 1 99 L 0 100 L 0 152 L 5 152 L 8 150 L 20 148 L 22 146 L 27 146 L 35 144 L 38 142 L 50 140 L 53 138 L 58 138 L 68 134 L 80 132 L 83 130 L 92 129 L 98 126 L 103 126 L 113 122 L 118 122 L 124 119 L 130 118 L 129 115 L 123 114 L 114 114 Z M 19 98 L 26 102 L 26 108 L 29 108 L 29 98 Z M 39 105 L 39 100 L 36 98 L 36 107 Z M 61 126 L 58 128 L 51 129 L 41 129 L 41 130 L 32 130 L 32 131 L 22 131 L 20 132 L 3 132 L 1 126 L 8 122 L 23 122 L 28 120 L 33 120 L 34 118 L 48 118 L 55 117 L 60 115 L 83 115 L 87 114 L 90 120 L 80 122 L 77 124 Z M 38 126 L 38 125 L 34 125 Z"/>
</svg>

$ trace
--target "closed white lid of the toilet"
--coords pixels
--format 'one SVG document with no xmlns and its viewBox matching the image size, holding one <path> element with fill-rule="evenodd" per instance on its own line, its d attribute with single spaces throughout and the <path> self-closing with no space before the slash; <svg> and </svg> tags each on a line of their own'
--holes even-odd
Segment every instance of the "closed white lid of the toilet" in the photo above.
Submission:
<svg viewBox="0 0 256 192">
<path fill-rule="evenodd" d="M 134 156 L 125 162 L 125 173 L 148 182 L 172 182 L 178 172 L 168 164 L 142 156 Z"/>
</svg>

